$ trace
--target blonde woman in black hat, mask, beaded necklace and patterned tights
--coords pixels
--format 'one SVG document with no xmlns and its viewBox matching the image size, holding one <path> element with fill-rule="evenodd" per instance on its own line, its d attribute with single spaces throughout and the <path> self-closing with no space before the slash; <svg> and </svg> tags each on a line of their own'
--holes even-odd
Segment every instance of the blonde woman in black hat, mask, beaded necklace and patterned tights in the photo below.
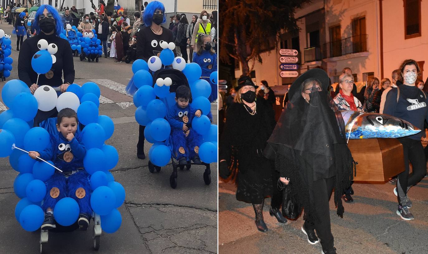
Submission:
<svg viewBox="0 0 428 254">
<path fill-rule="evenodd" d="M 265 232 L 268 230 L 262 213 L 265 197 L 272 196 L 270 215 L 281 223 L 287 220 L 279 212 L 282 201 L 276 188 L 279 173 L 273 172 L 273 162 L 263 157 L 266 141 L 275 126 L 274 113 L 266 100 L 255 101 L 256 88 L 248 76 L 238 81 L 220 142 L 219 171 L 220 177 L 228 178 L 231 171 L 238 169 L 236 199 L 253 204 L 257 229 Z"/>
</svg>

